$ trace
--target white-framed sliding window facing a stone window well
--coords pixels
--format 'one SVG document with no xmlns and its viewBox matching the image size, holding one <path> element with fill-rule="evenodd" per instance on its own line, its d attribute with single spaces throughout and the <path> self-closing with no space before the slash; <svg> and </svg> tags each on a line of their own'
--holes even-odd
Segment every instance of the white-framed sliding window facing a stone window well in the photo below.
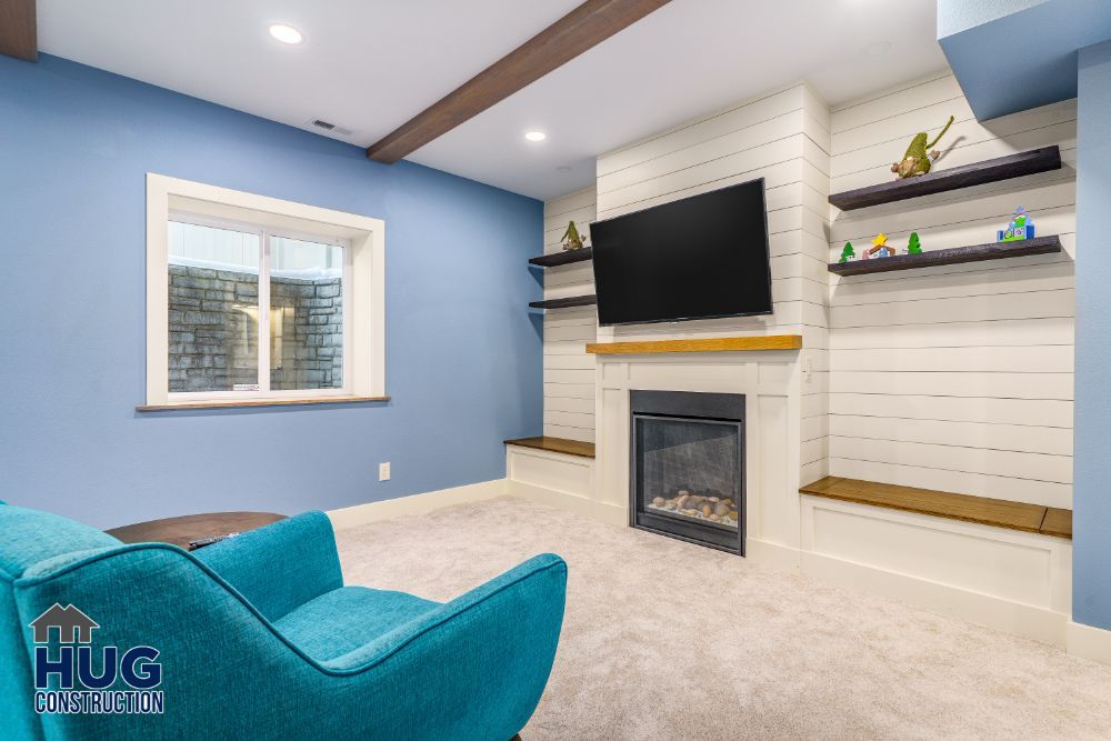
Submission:
<svg viewBox="0 0 1111 741">
<path fill-rule="evenodd" d="M 383 232 L 149 174 L 146 405 L 384 397 Z"/>
</svg>

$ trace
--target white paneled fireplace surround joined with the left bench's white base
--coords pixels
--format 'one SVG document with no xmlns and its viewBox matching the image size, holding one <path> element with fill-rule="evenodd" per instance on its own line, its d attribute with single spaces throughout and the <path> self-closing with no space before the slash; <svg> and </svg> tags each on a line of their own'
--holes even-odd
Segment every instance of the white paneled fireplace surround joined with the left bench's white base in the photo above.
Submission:
<svg viewBox="0 0 1111 741">
<path fill-rule="evenodd" d="M 801 539 L 800 350 L 599 354 L 594 371 L 595 459 L 511 447 L 511 491 L 628 525 L 632 390 L 745 397 L 745 553 L 797 567 Z"/>
</svg>

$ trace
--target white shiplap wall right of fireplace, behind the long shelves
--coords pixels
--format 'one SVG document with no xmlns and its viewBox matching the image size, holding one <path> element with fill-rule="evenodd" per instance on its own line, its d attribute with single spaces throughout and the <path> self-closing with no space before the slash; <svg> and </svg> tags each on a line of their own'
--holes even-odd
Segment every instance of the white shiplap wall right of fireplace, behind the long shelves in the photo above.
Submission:
<svg viewBox="0 0 1111 741">
<path fill-rule="evenodd" d="M 918 131 L 957 122 L 951 168 L 1059 144 L 1064 169 L 833 211 L 829 258 L 883 231 L 902 253 L 995 241 L 1017 206 L 1068 254 L 831 279 L 830 469 L 1053 507 L 1072 503 L 1075 101 L 979 123 L 950 72 L 834 108 L 833 192 L 890 180 Z"/>
</svg>

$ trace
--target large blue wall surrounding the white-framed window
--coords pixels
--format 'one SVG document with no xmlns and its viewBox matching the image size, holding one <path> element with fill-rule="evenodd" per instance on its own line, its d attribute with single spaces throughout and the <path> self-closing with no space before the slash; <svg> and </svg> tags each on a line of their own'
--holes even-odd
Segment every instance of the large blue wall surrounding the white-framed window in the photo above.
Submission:
<svg viewBox="0 0 1111 741">
<path fill-rule="evenodd" d="M 393 401 L 137 413 L 147 172 L 384 219 Z M 542 212 L 70 61 L 0 57 L 0 499 L 112 527 L 503 477 L 501 441 L 542 425 L 527 310 Z"/>
</svg>

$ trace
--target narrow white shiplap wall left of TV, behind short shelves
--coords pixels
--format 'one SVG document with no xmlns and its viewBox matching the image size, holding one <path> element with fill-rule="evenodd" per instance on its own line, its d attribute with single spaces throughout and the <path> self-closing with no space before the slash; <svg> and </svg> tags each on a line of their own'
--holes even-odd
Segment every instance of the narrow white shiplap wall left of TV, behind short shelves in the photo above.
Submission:
<svg viewBox="0 0 1111 741">
<path fill-rule="evenodd" d="M 594 221 L 594 189 L 588 188 L 544 203 L 544 254 L 562 250 L 568 221 L 585 240 Z M 544 269 L 544 298 L 561 299 L 594 292 L 590 261 Z M 593 342 L 598 314 L 593 307 L 559 309 L 544 316 L 544 434 L 594 440 Z"/>
</svg>

